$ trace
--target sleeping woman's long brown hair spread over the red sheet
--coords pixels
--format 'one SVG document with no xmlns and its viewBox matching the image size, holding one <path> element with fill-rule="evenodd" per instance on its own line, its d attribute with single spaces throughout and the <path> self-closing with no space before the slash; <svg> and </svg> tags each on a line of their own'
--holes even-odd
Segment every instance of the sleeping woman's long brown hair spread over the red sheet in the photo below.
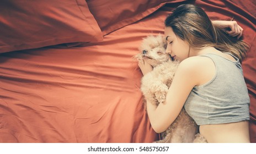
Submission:
<svg viewBox="0 0 256 154">
<path fill-rule="evenodd" d="M 196 5 L 179 5 L 168 15 L 165 26 L 172 27 L 174 34 L 192 48 L 215 47 L 221 52 L 232 53 L 240 62 L 246 57 L 247 43 L 215 27 L 204 10 Z"/>
</svg>

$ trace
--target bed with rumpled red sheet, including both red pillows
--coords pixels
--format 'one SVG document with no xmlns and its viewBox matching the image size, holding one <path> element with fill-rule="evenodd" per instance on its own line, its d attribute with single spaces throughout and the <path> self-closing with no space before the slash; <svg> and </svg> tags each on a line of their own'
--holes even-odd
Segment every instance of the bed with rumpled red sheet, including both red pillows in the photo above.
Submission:
<svg viewBox="0 0 256 154">
<path fill-rule="evenodd" d="M 180 4 L 236 20 L 256 142 L 256 3 L 246 0 L 0 2 L 0 142 L 152 142 L 132 56 Z"/>
</svg>

